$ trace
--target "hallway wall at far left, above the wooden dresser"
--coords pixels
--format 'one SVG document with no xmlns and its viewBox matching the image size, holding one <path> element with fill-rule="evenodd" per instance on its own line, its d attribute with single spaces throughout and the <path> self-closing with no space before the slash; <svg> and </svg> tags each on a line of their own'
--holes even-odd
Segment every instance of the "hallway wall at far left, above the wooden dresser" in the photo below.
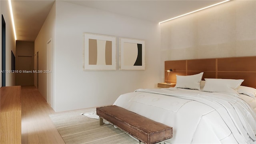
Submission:
<svg viewBox="0 0 256 144">
<path fill-rule="evenodd" d="M 6 70 L 12 70 L 11 69 L 11 51 L 14 53 L 14 56 L 16 54 L 16 42 L 14 38 L 14 32 L 12 28 L 12 20 L 10 15 L 10 9 L 8 0 L 0 0 L 0 11 L 1 14 L 4 16 L 4 20 L 6 23 Z M 1 35 L 2 35 L 2 16 L 0 20 L 0 29 L 1 29 Z M 2 37 L 0 37 L 2 41 Z M 0 43 L 1 49 L 1 70 L 2 70 L 2 43 Z M 2 74 L 1 74 L 2 75 Z M 1 86 L 2 86 L 2 76 L 0 80 Z M 15 73 L 6 73 L 6 86 L 15 86 Z"/>
</svg>

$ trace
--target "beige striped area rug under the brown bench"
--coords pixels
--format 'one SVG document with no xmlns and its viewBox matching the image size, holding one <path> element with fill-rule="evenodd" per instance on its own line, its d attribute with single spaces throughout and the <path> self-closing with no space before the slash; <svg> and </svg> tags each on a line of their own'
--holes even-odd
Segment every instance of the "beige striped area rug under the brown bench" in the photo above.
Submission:
<svg viewBox="0 0 256 144">
<path fill-rule="evenodd" d="M 50 114 L 50 118 L 66 144 L 139 144 L 134 138 L 111 124 L 100 126 L 99 120 L 82 113 L 96 108 Z"/>
</svg>

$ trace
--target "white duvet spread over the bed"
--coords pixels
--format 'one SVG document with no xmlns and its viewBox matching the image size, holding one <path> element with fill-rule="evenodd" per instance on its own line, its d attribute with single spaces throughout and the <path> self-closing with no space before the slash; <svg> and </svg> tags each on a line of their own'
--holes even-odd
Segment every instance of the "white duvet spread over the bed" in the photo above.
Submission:
<svg viewBox="0 0 256 144">
<path fill-rule="evenodd" d="M 120 95 L 114 105 L 172 126 L 173 138 L 167 141 L 172 144 L 256 144 L 256 113 L 246 101 L 229 94 L 139 89 Z"/>
</svg>

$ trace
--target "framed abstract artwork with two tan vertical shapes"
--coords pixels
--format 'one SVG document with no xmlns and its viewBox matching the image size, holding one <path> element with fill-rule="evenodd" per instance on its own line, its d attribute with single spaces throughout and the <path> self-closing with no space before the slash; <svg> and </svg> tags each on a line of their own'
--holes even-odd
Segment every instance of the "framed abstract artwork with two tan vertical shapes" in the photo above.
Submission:
<svg viewBox="0 0 256 144">
<path fill-rule="evenodd" d="M 83 69 L 116 70 L 116 37 L 83 34 Z"/>
</svg>

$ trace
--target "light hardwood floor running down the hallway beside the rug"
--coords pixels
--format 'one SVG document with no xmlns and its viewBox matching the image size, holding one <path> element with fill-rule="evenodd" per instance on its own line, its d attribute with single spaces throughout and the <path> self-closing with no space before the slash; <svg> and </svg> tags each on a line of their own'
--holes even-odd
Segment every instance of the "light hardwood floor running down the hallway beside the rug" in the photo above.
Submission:
<svg viewBox="0 0 256 144">
<path fill-rule="evenodd" d="M 65 144 L 49 117 L 53 113 L 54 110 L 34 86 L 22 86 L 22 144 Z"/>
</svg>

